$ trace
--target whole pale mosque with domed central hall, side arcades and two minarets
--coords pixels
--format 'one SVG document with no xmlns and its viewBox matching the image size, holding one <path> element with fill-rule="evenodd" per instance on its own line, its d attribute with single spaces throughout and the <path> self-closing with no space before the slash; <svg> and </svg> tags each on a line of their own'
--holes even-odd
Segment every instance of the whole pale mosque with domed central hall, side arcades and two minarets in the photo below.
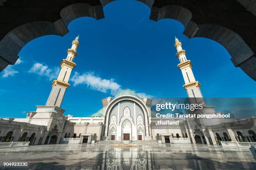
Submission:
<svg viewBox="0 0 256 170">
<path fill-rule="evenodd" d="M 70 74 L 76 63 L 79 36 L 67 50 L 67 58 L 61 61 L 61 70 L 52 82 L 49 98 L 44 106 L 28 112 L 26 118 L 0 119 L 0 142 L 30 141 L 30 145 L 56 143 L 97 143 L 122 141 L 158 143 L 202 143 L 221 145 L 220 141 L 256 142 L 256 118 L 244 120 L 212 121 L 193 118 L 172 118 L 179 125 L 156 125 L 160 118 L 152 109 L 152 100 L 139 97 L 132 90 L 122 90 L 115 97 L 102 99 L 102 108 L 91 117 L 64 116 L 61 108 L 65 92 L 69 88 Z M 182 42 L 175 37 L 178 68 L 184 78 L 184 89 L 191 103 L 205 103 L 192 72 L 192 62 L 187 60 Z M 214 106 L 203 106 L 202 113 L 218 113 Z M 162 121 L 164 121 L 161 118 Z"/>
</svg>

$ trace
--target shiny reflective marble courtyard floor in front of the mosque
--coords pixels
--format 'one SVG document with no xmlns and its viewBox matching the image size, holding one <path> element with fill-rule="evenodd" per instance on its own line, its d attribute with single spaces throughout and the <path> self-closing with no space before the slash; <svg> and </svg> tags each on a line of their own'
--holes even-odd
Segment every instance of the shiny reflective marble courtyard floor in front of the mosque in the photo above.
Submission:
<svg viewBox="0 0 256 170">
<path fill-rule="evenodd" d="M 256 161 L 247 149 L 202 144 L 38 145 L 0 149 L 0 162 L 4 160 L 27 162 L 29 168 L 25 169 L 31 170 L 256 170 Z"/>
</svg>

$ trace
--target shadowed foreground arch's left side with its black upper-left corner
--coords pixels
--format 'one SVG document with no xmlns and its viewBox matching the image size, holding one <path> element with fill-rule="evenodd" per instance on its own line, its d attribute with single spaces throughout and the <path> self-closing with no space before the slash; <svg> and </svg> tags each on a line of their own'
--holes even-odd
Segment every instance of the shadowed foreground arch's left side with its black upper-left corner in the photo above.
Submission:
<svg viewBox="0 0 256 170">
<path fill-rule="evenodd" d="M 0 16 L 5 17 L 0 19 L 0 71 L 15 64 L 29 41 L 44 35 L 63 36 L 69 32 L 67 25 L 79 17 L 104 18 L 103 6 L 111 1 L 2 0 Z"/>
</svg>

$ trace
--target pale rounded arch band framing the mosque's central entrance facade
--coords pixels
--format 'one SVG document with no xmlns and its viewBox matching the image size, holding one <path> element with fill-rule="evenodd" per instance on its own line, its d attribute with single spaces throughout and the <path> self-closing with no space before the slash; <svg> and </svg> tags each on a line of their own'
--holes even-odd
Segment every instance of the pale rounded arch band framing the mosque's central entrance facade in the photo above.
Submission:
<svg viewBox="0 0 256 170">
<path fill-rule="evenodd" d="M 145 122 L 145 136 L 148 136 L 149 137 L 149 129 L 148 129 L 148 115 L 149 115 L 149 112 L 148 112 L 148 109 L 145 105 L 145 103 L 139 99 L 138 97 L 135 97 L 135 96 L 131 96 L 131 95 L 125 95 L 125 96 L 120 96 L 120 97 L 116 97 L 114 98 L 109 104 L 108 104 L 108 108 L 107 110 L 103 113 L 103 116 L 105 118 L 104 120 L 104 123 L 105 123 L 105 132 L 104 132 L 104 136 L 108 136 L 108 126 L 109 126 L 109 114 L 110 114 L 110 111 L 112 110 L 112 108 L 118 104 L 118 102 L 121 102 L 123 100 L 130 100 L 130 101 L 133 101 L 133 102 L 136 102 L 142 109 L 143 113 L 144 113 L 144 122 Z M 119 120 L 118 120 L 119 121 Z M 132 122 L 131 122 L 132 123 Z"/>
</svg>

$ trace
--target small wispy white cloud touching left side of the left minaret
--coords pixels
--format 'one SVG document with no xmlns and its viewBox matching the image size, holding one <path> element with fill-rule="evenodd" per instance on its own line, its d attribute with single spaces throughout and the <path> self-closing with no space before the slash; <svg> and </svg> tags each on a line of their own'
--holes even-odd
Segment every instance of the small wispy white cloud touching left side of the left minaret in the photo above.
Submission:
<svg viewBox="0 0 256 170">
<path fill-rule="evenodd" d="M 28 72 L 36 73 L 37 75 L 40 75 L 40 76 L 46 76 L 49 78 L 49 80 L 53 80 L 54 78 L 58 77 L 59 71 L 60 71 L 59 67 L 55 67 L 52 70 L 47 65 L 43 65 L 39 62 L 36 62 Z"/>
</svg>

